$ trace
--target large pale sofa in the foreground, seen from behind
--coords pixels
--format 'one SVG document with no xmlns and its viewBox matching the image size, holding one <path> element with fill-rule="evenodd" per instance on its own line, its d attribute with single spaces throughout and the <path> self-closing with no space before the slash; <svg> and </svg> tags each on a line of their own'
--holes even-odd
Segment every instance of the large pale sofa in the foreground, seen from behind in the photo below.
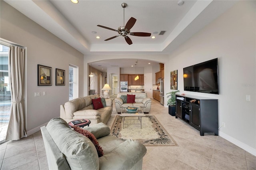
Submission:
<svg viewBox="0 0 256 170">
<path fill-rule="evenodd" d="M 85 127 L 103 150 L 98 157 L 92 141 L 74 130 L 66 121 L 54 118 L 41 127 L 50 170 L 141 170 L 146 147 L 133 140 L 123 141 L 110 134 L 104 123 Z"/>
</svg>

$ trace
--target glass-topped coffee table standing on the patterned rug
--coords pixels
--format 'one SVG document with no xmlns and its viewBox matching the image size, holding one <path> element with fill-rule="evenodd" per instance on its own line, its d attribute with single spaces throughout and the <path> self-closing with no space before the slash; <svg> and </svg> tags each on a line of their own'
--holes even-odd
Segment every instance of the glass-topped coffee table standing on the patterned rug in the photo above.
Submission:
<svg viewBox="0 0 256 170">
<path fill-rule="evenodd" d="M 140 128 L 142 128 L 142 117 L 145 117 L 145 114 L 143 113 L 142 109 L 139 106 L 136 106 L 137 110 L 134 112 L 127 111 L 127 107 L 135 107 L 135 106 L 125 106 L 122 108 L 120 117 L 124 117 L 123 119 L 123 128 L 124 125 L 140 125 Z M 129 120 L 139 120 L 140 123 L 125 123 L 125 117 L 138 117 L 138 119 L 129 119 Z"/>
</svg>

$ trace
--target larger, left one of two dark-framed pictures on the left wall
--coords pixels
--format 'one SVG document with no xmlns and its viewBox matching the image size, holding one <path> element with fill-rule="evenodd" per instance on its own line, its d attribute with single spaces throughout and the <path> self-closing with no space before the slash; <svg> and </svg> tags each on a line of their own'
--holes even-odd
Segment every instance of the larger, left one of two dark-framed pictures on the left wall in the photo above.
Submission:
<svg viewBox="0 0 256 170">
<path fill-rule="evenodd" d="M 52 85 L 52 67 L 37 65 L 37 85 Z"/>
</svg>

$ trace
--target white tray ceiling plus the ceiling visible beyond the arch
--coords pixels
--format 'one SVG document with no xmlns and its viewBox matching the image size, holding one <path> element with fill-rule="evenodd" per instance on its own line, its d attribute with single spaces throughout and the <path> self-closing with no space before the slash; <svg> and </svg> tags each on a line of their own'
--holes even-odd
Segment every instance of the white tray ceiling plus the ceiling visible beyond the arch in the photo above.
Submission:
<svg viewBox="0 0 256 170">
<path fill-rule="evenodd" d="M 178 0 L 79 0 L 78 4 L 70 0 L 4 1 L 84 54 L 169 54 L 236 3 L 234 0 L 184 0 L 178 6 Z M 125 9 L 122 2 L 128 4 Z M 129 36 L 132 45 L 122 36 L 104 41 L 118 33 L 97 25 L 117 30 L 131 17 L 137 19 L 131 32 L 149 32 L 156 38 Z M 158 35 L 161 31 L 166 32 Z M 98 65 L 111 63 L 96 62 L 92 67 L 100 70 Z M 127 67 L 135 61 L 120 59 L 115 63 Z M 139 61 L 139 66 L 144 67 L 144 63 L 148 65 L 148 61 Z"/>
</svg>

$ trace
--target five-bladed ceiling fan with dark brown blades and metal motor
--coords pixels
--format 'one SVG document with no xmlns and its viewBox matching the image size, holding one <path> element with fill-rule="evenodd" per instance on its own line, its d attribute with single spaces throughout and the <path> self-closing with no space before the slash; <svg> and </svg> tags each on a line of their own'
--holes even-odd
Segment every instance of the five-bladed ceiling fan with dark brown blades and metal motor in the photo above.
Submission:
<svg viewBox="0 0 256 170">
<path fill-rule="evenodd" d="M 122 3 L 122 7 L 125 8 L 127 6 L 126 3 Z M 105 26 L 101 26 L 101 25 L 97 25 L 99 27 L 102 27 L 102 28 L 106 28 L 108 30 L 112 30 L 112 31 L 115 31 L 115 32 L 118 32 L 119 35 L 117 36 L 114 36 L 114 37 L 110 37 L 104 41 L 108 41 L 108 40 L 112 40 L 113 38 L 116 38 L 116 37 L 119 37 L 119 36 L 123 36 L 125 41 L 131 45 L 132 44 L 132 40 L 127 36 L 127 35 L 131 35 L 131 36 L 139 36 L 139 37 L 149 37 L 151 36 L 151 33 L 146 33 L 146 32 L 130 32 L 130 29 L 134 26 L 136 22 L 136 19 L 131 17 L 130 20 L 128 20 L 128 22 L 126 23 L 125 26 L 120 26 L 118 28 L 118 30 L 115 30 L 115 29 L 112 29 L 112 28 L 108 28 L 108 27 L 105 27 Z"/>
</svg>

